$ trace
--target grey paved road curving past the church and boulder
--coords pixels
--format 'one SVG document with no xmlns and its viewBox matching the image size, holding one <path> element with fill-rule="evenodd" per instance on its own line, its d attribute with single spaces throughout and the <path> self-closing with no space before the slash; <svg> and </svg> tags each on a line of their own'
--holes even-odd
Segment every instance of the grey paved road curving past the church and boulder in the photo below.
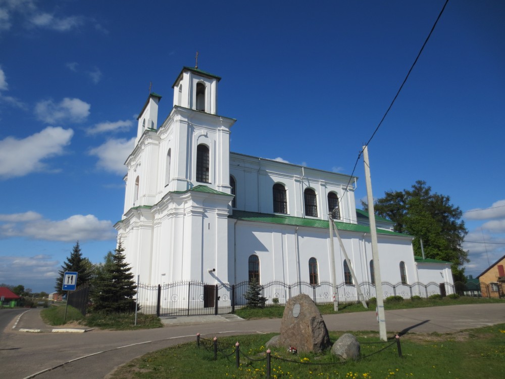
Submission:
<svg viewBox="0 0 505 379">
<path fill-rule="evenodd" d="M 375 312 L 325 315 L 324 319 L 330 330 L 378 329 Z M 15 318 L 5 329 L 0 345 L 0 377 L 9 379 L 25 378 L 58 365 L 61 366 L 35 377 L 100 378 L 105 377 L 116 366 L 149 351 L 194 341 L 197 332 L 219 338 L 219 335 L 278 332 L 280 328 L 280 319 L 263 319 L 172 325 L 163 329 L 135 331 L 93 330 L 87 333 L 31 334 L 13 330 L 14 321 Z M 401 333 L 408 337 L 411 333 L 434 331 L 451 333 L 496 323 L 505 323 L 505 303 L 386 311 L 389 336 Z M 103 353 L 96 354 L 99 352 Z M 88 357 L 65 363 L 84 356 Z"/>
</svg>

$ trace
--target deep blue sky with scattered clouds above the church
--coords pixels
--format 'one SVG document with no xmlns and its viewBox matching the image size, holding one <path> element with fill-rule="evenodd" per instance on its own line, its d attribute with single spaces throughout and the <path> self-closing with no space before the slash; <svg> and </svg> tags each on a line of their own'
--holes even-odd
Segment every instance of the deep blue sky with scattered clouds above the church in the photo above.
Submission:
<svg viewBox="0 0 505 379">
<path fill-rule="evenodd" d="M 115 248 L 149 82 L 163 120 L 196 51 L 232 151 L 350 174 L 443 4 L 0 0 L 0 282 L 52 292 L 76 240 Z M 375 198 L 422 179 L 472 211 L 475 276 L 505 254 L 504 18 L 450 1 L 369 145 Z"/>
</svg>

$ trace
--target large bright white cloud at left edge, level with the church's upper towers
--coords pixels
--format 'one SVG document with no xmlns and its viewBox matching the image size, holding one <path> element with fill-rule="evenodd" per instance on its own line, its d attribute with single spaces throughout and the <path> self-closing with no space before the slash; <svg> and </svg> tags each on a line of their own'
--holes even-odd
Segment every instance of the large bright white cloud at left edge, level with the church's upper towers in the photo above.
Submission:
<svg viewBox="0 0 505 379">
<path fill-rule="evenodd" d="M 0 177 L 24 176 L 46 170 L 42 160 L 63 154 L 63 148 L 70 144 L 73 134 L 72 129 L 47 127 L 23 139 L 6 137 L 0 140 Z"/>
</svg>

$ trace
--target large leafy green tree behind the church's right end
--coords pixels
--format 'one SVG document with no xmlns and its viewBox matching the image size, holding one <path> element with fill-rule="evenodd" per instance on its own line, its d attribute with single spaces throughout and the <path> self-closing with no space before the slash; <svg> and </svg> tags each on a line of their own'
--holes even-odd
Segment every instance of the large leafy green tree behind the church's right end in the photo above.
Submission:
<svg viewBox="0 0 505 379">
<path fill-rule="evenodd" d="M 368 210 L 367 204 L 362 205 Z M 418 180 L 411 189 L 385 192 L 374 210 L 393 221 L 395 231 L 415 237 L 415 255 L 422 256 L 422 239 L 426 258 L 451 262 L 455 280 L 464 278 L 465 269 L 460 266 L 469 262 L 468 252 L 462 248 L 468 230 L 461 220 L 463 212 L 448 196 L 432 193 L 425 181 Z"/>
</svg>

